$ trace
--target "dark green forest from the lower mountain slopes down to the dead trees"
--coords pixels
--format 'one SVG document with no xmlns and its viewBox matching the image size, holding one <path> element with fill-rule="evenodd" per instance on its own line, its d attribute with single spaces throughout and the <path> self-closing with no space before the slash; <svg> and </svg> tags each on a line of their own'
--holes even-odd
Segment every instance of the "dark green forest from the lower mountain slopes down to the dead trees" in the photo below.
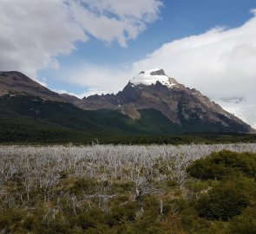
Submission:
<svg viewBox="0 0 256 234">
<path fill-rule="evenodd" d="M 154 109 L 132 120 L 115 110 L 83 111 L 69 103 L 31 95 L 0 99 L 0 144 L 191 144 L 256 142 L 255 133 L 186 131 Z M 198 123 L 195 129 L 200 129 Z M 209 132 L 207 133 L 207 130 Z M 239 132 L 239 131 L 238 131 Z"/>
</svg>

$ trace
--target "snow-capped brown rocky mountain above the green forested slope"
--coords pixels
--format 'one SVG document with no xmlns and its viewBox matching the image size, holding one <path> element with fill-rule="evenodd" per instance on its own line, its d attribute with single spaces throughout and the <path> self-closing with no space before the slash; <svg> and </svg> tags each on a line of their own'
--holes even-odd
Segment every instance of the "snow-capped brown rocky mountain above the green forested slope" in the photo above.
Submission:
<svg viewBox="0 0 256 234">
<path fill-rule="evenodd" d="M 139 110 L 154 108 L 187 132 L 240 132 L 254 130 L 194 88 L 186 88 L 162 69 L 142 71 L 121 92 L 84 98 L 83 107 L 120 109 L 139 119 Z"/>
</svg>

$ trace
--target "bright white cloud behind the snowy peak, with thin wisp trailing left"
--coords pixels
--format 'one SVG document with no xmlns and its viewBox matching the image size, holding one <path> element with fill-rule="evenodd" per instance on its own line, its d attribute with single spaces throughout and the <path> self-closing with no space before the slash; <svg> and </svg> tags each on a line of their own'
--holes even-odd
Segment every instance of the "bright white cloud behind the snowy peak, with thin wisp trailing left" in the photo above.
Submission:
<svg viewBox="0 0 256 234">
<path fill-rule="evenodd" d="M 252 11 L 256 14 L 256 10 Z M 88 94 L 116 93 L 141 70 L 164 68 L 167 75 L 215 99 L 256 99 L 256 16 L 235 29 L 216 28 L 168 42 L 129 68 L 83 64 L 62 77 L 89 88 Z M 73 77 L 73 78 L 71 78 Z M 81 95 L 80 95 L 81 96 Z"/>
</svg>

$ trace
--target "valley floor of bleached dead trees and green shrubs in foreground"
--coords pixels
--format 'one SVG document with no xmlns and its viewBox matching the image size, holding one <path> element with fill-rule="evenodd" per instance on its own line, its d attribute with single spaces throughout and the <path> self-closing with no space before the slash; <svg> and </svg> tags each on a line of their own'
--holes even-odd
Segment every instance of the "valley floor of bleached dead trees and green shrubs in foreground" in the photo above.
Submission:
<svg viewBox="0 0 256 234">
<path fill-rule="evenodd" d="M 256 233 L 255 179 L 253 143 L 0 146 L 0 232 Z"/>
</svg>

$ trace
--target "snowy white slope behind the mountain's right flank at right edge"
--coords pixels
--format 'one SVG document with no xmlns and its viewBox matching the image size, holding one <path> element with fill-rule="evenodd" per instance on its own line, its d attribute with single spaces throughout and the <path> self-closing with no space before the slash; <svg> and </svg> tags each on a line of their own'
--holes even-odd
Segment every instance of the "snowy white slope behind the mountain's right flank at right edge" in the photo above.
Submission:
<svg viewBox="0 0 256 234">
<path fill-rule="evenodd" d="M 251 127 L 256 129 L 256 100 L 236 97 L 214 100 L 227 112 L 234 114 Z"/>
</svg>

